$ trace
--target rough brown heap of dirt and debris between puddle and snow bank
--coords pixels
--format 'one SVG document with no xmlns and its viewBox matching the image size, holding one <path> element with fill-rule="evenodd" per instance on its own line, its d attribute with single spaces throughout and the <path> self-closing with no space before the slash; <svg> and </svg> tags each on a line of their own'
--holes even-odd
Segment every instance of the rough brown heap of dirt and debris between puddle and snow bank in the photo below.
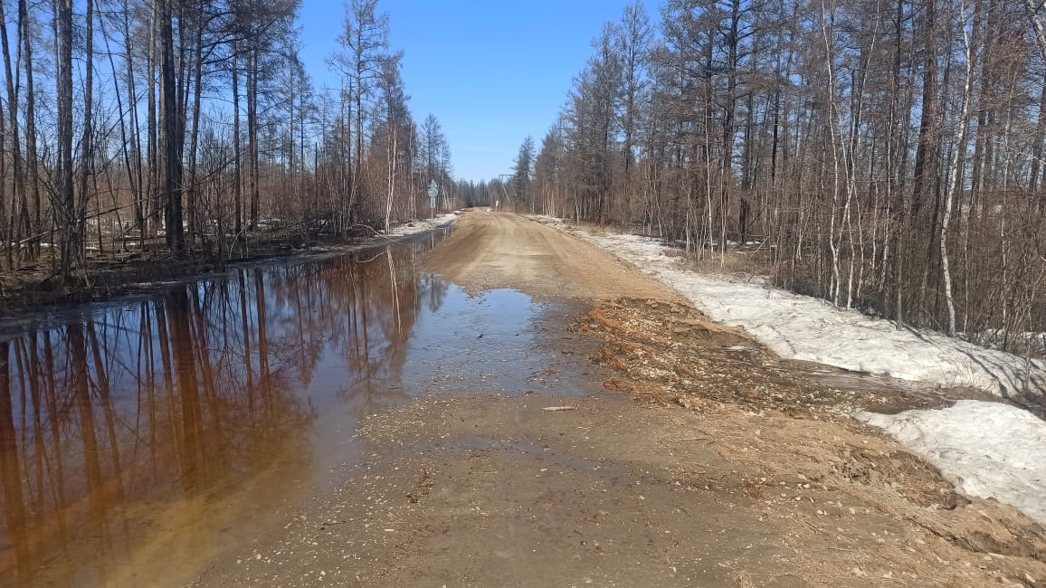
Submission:
<svg viewBox="0 0 1046 588">
<path fill-rule="evenodd" d="M 604 383 L 684 407 L 695 399 L 833 419 L 854 410 L 915 406 L 911 390 L 855 390 L 821 385 L 737 327 L 709 320 L 693 307 L 621 298 L 604 302 L 576 330 L 602 341 L 593 358 L 620 374 Z"/>
</svg>

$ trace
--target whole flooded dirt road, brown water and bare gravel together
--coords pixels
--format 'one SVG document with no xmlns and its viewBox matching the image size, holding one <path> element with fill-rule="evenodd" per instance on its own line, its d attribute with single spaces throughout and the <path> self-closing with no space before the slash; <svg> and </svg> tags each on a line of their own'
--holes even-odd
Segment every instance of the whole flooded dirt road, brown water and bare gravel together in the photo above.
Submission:
<svg viewBox="0 0 1046 588">
<path fill-rule="evenodd" d="M 0 325 L 0 585 L 1046 575 L 1033 521 L 834 412 L 907 388 L 809 386 L 536 222 L 454 230 Z"/>
</svg>

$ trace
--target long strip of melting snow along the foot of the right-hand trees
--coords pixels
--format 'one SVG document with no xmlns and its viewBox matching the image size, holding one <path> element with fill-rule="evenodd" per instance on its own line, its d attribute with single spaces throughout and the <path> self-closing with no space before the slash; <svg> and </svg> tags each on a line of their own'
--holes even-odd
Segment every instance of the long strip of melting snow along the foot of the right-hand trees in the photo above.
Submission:
<svg viewBox="0 0 1046 588">
<path fill-rule="evenodd" d="M 1009 397 L 1046 392 L 1046 361 L 987 349 L 939 333 L 896 329 L 820 298 L 768 288 L 766 279 L 700 275 L 678 268 L 669 248 L 632 234 L 590 234 L 540 218 L 606 249 L 678 290 L 711 319 L 742 326 L 786 359 Z"/>
</svg>

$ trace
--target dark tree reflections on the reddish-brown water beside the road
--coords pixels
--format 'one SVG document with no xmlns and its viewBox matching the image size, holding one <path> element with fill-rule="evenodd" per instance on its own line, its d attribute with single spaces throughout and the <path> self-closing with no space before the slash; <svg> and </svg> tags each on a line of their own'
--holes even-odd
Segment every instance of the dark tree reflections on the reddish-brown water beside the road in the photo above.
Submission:
<svg viewBox="0 0 1046 588">
<path fill-rule="evenodd" d="M 48 582 L 91 582 L 77 553 L 132 548 L 142 504 L 221 496 L 288 448 L 308 461 L 314 398 L 400 400 L 448 291 L 416 253 L 244 268 L 0 342 L 0 575 L 71 558 Z"/>
</svg>

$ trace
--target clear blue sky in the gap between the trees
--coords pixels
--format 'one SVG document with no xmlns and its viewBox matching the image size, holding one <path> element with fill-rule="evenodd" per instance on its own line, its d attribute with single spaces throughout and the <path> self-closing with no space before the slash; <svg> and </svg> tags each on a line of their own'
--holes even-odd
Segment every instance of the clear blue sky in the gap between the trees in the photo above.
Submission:
<svg viewBox="0 0 1046 588">
<path fill-rule="evenodd" d="M 541 139 L 607 21 L 627 0 L 380 0 L 414 117 L 430 112 L 465 180 L 510 172 L 527 135 Z M 647 2 L 656 10 L 658 2 Z M 344 4 L 303 0 L 301 54 L 314 84 L 337 87 L 326 58 L 337 46 Z M 656 24 L 652 19 L 652 24 Z"/>
</svg>

